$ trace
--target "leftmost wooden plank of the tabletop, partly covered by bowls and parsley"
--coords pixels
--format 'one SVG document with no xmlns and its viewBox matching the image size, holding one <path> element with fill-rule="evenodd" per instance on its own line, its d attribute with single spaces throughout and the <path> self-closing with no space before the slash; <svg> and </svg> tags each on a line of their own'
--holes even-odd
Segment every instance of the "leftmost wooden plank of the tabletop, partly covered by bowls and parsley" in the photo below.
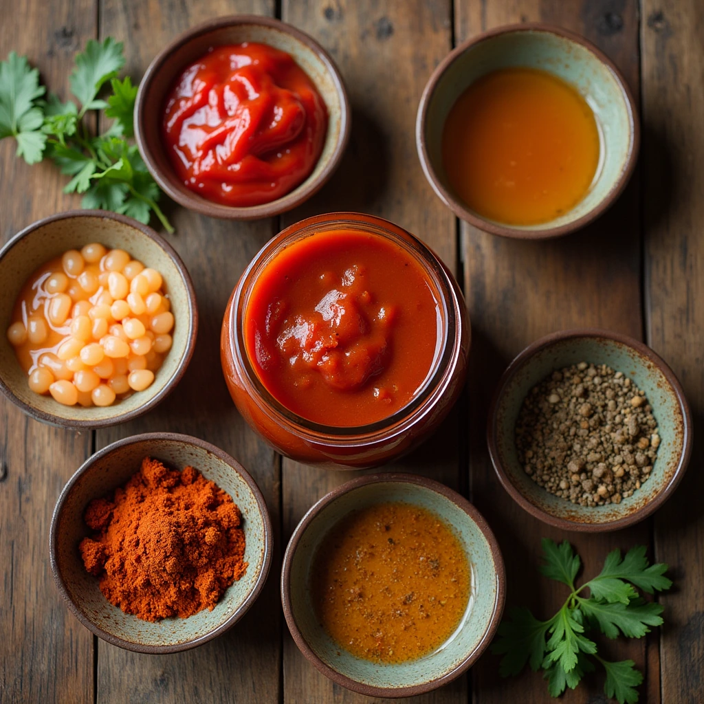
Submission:
<svg viewBox="0 0 704 704">
<path fill-rule="evenodd" d="M 63 98 L 73 54 L 95 36 L 93 0 L 0 3 L 0 60 L 26 54 Z M 15 158 L 0 142 L 0 237 L 77 206 L 50 164 Z M 29 197 L 28 197 L 29 196 Z M 4 334 L 8 321 L 0 321 Z M 90 453 L 90 433 L 30 420 L 0 398 L 0 700 L 87 702 L 93 697 L 93 638 L 68 612 L 49 567 L 49 524 L 63 484 Z"/>
</svg>

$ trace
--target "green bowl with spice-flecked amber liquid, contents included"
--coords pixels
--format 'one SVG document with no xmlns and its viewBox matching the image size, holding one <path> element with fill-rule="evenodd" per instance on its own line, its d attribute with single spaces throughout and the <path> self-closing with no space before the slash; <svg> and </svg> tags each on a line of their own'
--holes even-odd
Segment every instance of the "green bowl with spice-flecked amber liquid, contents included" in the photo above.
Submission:
<svg viewBox="0 0 704 704">
<path fill-rule="evenodd" d="M 406 697 L 468 670 L 501 621 L 503 559 L 482 515 L 432 479 L 375 474 L 324 496 L 284 556 L 303 655 L 353 691 Z"/>
</svg>

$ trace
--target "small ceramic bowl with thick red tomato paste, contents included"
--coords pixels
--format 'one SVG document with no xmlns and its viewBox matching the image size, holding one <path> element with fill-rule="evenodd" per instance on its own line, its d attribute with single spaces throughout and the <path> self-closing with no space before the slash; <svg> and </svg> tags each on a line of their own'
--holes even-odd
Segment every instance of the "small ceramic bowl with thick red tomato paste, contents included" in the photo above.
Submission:
<svg viewBox="0 0 704 704">
<path fill-rule="evenodd" d="M 134 132 L 159 186 L 215 218 L 278 215 L 337 168 L 350 129 L 327 52 L 279 20 L 222 17 L 174 40 L 139 86 Z"/>
</svg>

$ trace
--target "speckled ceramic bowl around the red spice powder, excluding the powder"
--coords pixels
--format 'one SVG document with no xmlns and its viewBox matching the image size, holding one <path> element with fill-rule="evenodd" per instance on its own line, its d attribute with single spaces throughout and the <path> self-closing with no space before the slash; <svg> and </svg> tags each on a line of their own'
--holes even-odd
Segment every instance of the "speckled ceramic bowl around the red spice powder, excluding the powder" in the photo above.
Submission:
<svg viewBox="0 0 704 704">
<path fill-rule="evenodd" d="M 103 596 L 98 579 L 86 572 L 78 543 L 90 534 L 83 522 L 87 505 L 122 486 L 145 457 L 182 470 L 191 465 L 232 496 L 244 519 L 246 573 L 234 582 L 212 611 L 188 618 L 148 622 L 126 614 Z M 108 445 L 89 458 L 64 486 L 49 532 L 51 571 L 68 608 L 96 636 L 139 653 L 176 653 L 219 636 L 249 610 L 266 582 L 271 565 L 272 529 L 264 497 L 237 460 L 188 435 L 148 433 Z"/>
</svg>

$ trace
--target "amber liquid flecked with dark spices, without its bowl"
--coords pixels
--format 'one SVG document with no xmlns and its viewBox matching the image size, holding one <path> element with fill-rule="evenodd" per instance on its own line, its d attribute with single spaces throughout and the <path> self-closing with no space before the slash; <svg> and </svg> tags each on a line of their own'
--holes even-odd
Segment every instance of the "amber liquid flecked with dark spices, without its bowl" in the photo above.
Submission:
<svg viewBox="0 0 704 704">
<path fill-rule="evenodd" d="M 322 627 L 372 662 L 433 653 L 458 629 L 470 599 L 470 565 L 453 529 L 401 502 L 342 518 L 318 548 L 311 574 Z"/>
</svg>

